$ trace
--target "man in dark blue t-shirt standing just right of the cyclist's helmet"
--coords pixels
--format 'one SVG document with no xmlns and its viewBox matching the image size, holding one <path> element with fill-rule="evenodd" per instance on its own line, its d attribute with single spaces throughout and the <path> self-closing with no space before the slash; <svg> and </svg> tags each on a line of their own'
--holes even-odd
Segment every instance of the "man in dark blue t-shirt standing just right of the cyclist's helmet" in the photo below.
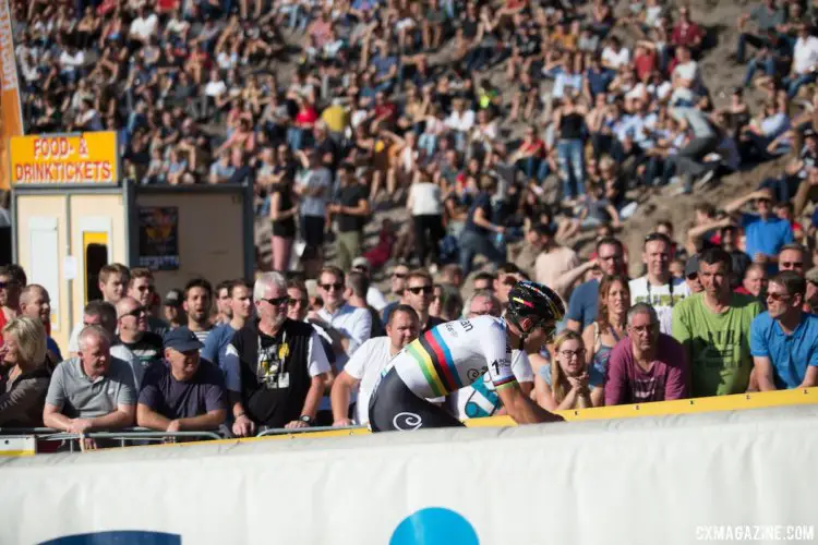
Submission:
<svg viewBox="0 0 818 545">
<path fill-rule="evenodd" d="M 589 261 L 592 263 L 590 267 L 593 277 L 574 290 L 568 303 L 567 327 L 576 332 L 584 331 L 597 319 L 600 276 L 621 275 L 624 271 L 625 254 L 622 242 L 606 237 L 597 241 L 596 250 L 597 258 Z"/>
</svg>

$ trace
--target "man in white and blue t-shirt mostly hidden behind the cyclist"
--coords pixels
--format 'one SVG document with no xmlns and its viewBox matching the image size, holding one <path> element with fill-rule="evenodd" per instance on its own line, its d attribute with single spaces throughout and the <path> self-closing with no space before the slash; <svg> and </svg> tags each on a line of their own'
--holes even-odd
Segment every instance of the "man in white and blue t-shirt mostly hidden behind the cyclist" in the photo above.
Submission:
<svg viewBox="0 0 818 545">
<path fill-rule="evenodd" d="M 466 317 L 474 318 L 485 315 L 500 316 L 500 300 L 492 295 L 491 291 L 477 291 L 466 302 Z M 512 350 L 512 373 L 517 378 L 522 393 L 529 396 L 534 387 L 534 373 L 525 350 Z M 460 420 L 503 413 L 503 403 L 500 401 L 489 373 L 483 375 L 482 380 L 477 380 L 454 392 L 452 401 L 455 416 Z"/>
</svg>

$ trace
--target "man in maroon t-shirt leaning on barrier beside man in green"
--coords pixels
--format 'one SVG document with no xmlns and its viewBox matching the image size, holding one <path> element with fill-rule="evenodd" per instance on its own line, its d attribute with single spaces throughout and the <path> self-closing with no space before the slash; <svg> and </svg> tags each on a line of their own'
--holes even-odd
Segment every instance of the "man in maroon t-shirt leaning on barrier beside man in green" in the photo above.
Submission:
<svg viewBox="0 0 818 545">
<path fill-rule="evenodd" d="M 685 350 L 659 331 L 655 310 L 637 303 L 627 313 L 628 336 L 611 351 L 605 375 L 605 403 L 619 405 L 688 397 Z"/>
</svg>

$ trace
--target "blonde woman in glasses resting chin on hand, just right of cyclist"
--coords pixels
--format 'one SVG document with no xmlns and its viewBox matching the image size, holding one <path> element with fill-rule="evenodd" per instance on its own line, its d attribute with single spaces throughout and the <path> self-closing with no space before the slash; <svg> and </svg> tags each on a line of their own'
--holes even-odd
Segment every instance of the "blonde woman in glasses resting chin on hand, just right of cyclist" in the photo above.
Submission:
<svg viewBox="0 0 818 545">
<path fill-rule="evenodd" d="M 564 330 L 554 340 L 551 365 L 534 377 L 537 403 L 549 411 L 593 407 L 588 386 L 585 342 L 576 331 Z"/>
</svg>

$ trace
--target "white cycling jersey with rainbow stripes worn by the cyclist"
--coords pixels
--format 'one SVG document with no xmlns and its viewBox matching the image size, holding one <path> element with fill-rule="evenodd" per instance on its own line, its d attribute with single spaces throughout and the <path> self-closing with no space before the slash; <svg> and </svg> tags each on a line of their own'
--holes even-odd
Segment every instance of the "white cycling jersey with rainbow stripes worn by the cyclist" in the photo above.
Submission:
<svg viewBox="0 0 818 545">
<path fill-rule="evenodd" d="M 389 365 L 421 398 L 447 396 L 489 373 L 500 390 L 517 383 L 503 318 L 447 322 L 409 343 Z"/>
</svg>

